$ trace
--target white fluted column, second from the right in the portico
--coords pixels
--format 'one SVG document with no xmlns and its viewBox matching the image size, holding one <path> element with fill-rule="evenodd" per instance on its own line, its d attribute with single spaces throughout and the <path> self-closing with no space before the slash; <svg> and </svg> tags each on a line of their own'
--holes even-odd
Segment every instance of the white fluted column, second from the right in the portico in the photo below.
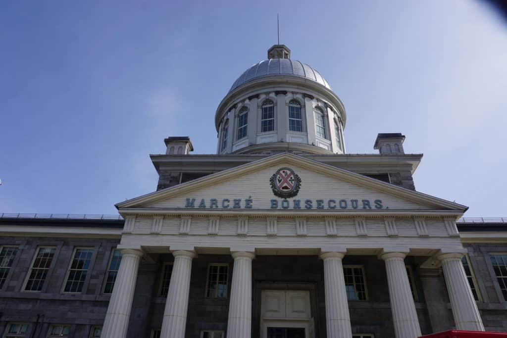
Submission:
<svg viewBox="0 0 507 338">
<path fill-rule="evenodd" d="M 402 252 L 389 252 L 381 255 L 381 258 L 385 261 L 396 338 L 417 338 L 421 335 L 421 328 L 410 291 L 405 256 Z"/>
</svg>

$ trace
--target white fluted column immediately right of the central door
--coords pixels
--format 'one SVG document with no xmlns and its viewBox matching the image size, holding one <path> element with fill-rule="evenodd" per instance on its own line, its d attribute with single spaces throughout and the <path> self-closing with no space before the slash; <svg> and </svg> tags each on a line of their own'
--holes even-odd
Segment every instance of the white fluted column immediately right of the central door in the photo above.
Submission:
<svg viewBox="0 0 507 338">
<path fill-rule="evenodd" d="M 322 253 L 324 261 L 325 318 L 328 338 L 350 338 L 350 314 L 343 276 L 342 252 Z"/>
</svg>

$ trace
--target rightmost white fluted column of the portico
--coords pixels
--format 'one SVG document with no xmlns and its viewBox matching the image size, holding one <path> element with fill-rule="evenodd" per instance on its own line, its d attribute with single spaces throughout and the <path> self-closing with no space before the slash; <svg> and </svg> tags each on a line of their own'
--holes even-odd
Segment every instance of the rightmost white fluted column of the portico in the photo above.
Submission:
<svg viewBox="0 0 507 338">
<path fill-rule="evenodd" d="M 458 330 L 484 331 L 481 315 L 461 263 L 462 257 L 461 253 L 445 253 L 438 256 L 442 261 L 456 328 Z"/>
</svg>

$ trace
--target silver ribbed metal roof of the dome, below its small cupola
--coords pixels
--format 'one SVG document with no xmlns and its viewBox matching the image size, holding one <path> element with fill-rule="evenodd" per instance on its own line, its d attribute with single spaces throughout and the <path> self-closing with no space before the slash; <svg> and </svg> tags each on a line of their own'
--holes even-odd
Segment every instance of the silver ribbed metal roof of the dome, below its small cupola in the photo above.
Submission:
<svg viewBox="0 0 507 338">
<path fill-rule="evenodd" d="M 331 90 L 328 82 L 324 80 L 318 71 L 309 65 L 298 60 L 277 58 L 261 61 L 246 69 L 234 82 L 229 92 L 232 92 L 234 89 L 247 82 L 276 75 L 306 78 Z"/>
</svg>

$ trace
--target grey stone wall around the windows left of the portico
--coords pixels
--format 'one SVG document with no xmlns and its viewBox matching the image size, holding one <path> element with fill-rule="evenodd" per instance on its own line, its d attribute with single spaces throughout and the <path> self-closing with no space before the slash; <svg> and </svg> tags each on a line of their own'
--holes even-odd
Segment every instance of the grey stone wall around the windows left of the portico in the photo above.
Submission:
<svg viewBox="0 0 507 338">
<path fill-rule="evenodd" d="M 0 290 L 0 333 L 9 322 L 27 322 L 27 337 L 46 337 L 50 324 L 71 324 L 70 336 L 86 338 L 92 325 L 102 325 L 110 295 L 101 294 L 107 264 L 118 240 L 4 237 L 2 245 L 19 251 Z M 26 274 L 38 246 L 55 246 L 56 253 L 42 292 L 22 292 Z M 83 292 L 63 293 L 67 268 L 77 246 L 93 247 L 94 255 Z"/>
</svg>

